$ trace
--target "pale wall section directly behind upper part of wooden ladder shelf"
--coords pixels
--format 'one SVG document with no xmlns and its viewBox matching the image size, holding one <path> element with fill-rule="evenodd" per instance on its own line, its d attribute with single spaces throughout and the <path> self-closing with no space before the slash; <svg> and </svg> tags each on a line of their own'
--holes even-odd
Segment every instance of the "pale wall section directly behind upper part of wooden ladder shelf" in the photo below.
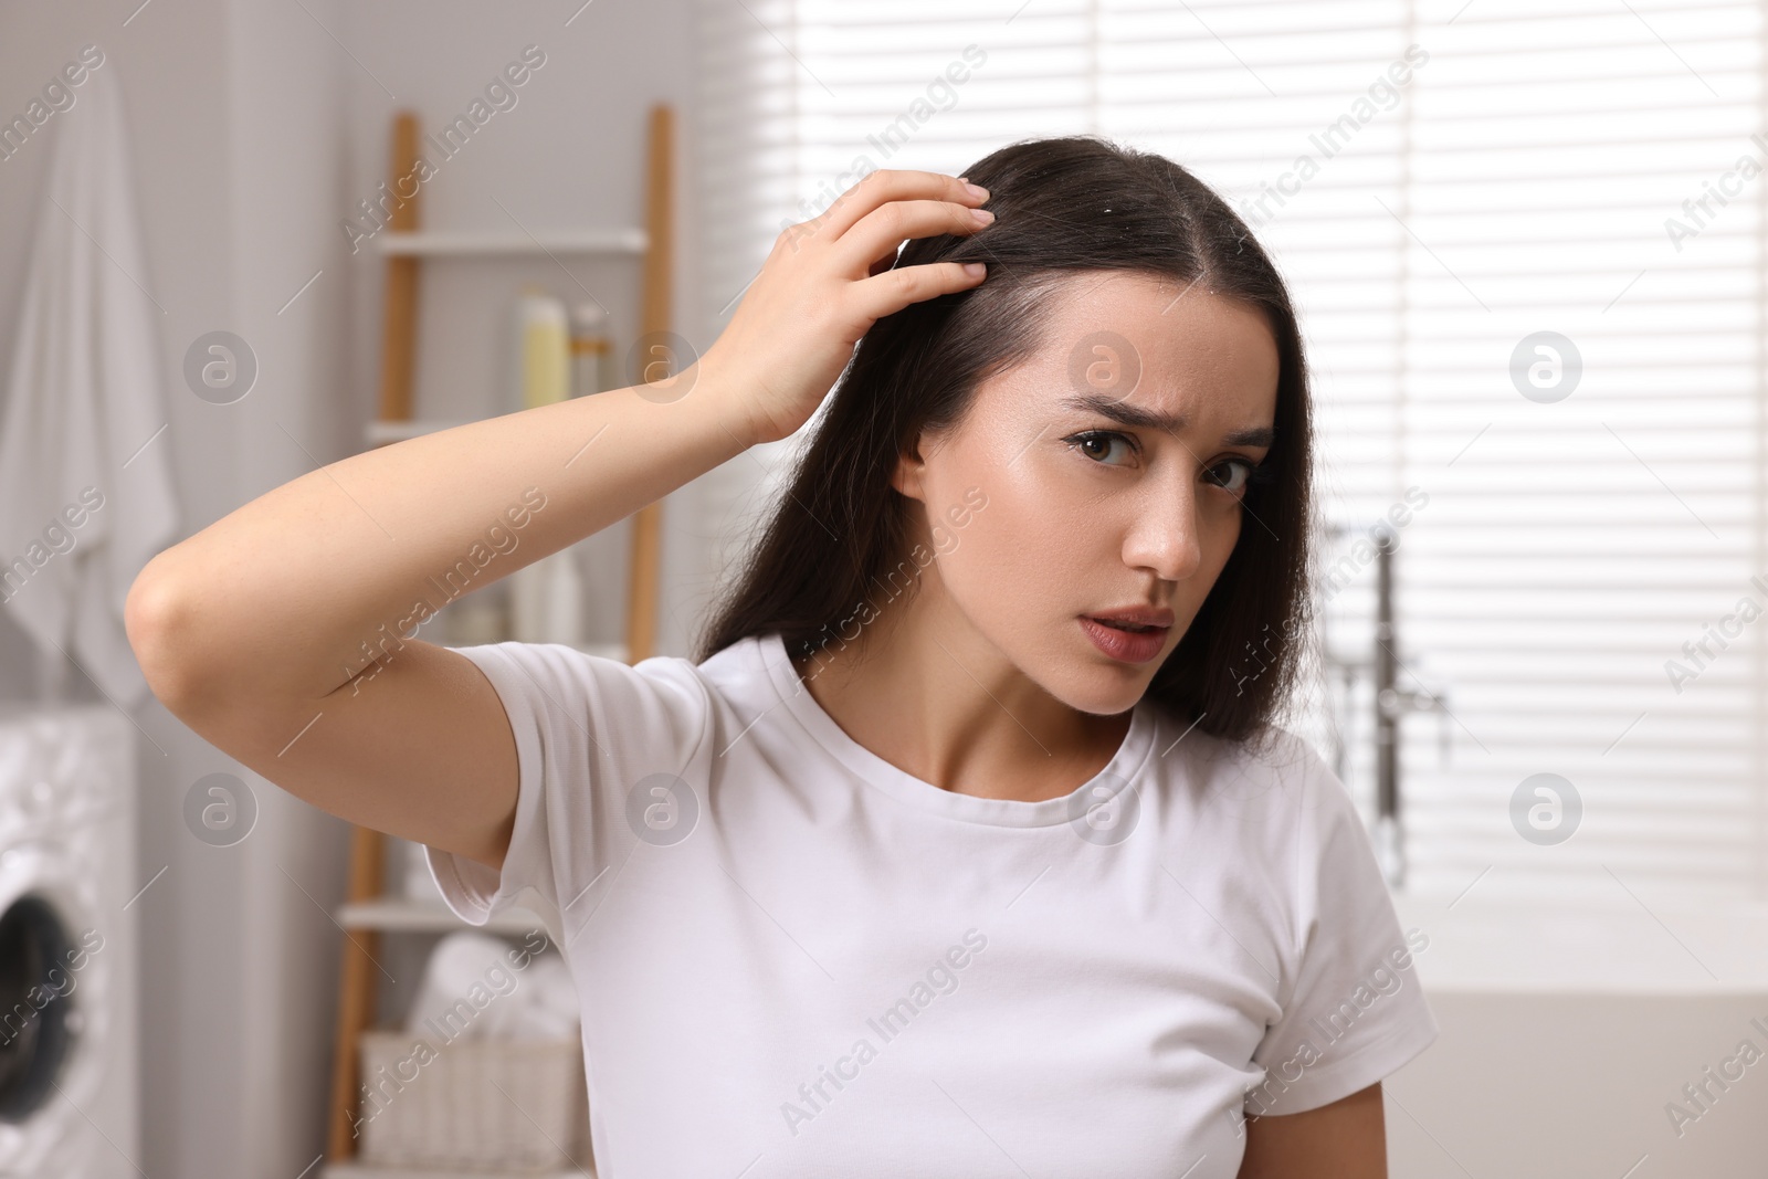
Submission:
<svg viewBox="0 0 1768 1179">
<path fill-rule="evenodd" d="M 350 44 L 362 64 L 345 62 L 347 191 L 329 228 L 343 244 L 345 217 L 368 226 L 359 203 L 373 200 L 377 186 L 387 179 L 396 110 L 415 110 L 419 133 L 437 133 L 476 99 L 492 106 L 486 85 L 527 49 L 530 60 L 543 64 L 525 83 L 509 88 L 506 106 L 493 106 L 484 126 L 454 156 L 423 148 L 437 175 L 419 189 L 421 224 L 537 237 L 546 230 L 644 226 L 645 120 L 652 103 L 667 101 L 677 111 L 675 331 L 704 348 L 709 339 L 697 293 L 698 232 L 691 216 L 693 111 L 686 65 L 691 4 L 582 5 L 583 0 L 389 2 L 354 9 Z M 339 276 L 350 286 L 352 302 L 352 408 L 339 419 L 347 433 L 336 444 L 355 447 L 359 422 L 375 415 L 378 396 L 384 262 L 375 240 L 347 253 Z M 520 408 L 511 396 L 504 345 L 509 302 L 523 283 L 537 283 L 568 302 L 592 299 L 606 306 L 610 334 L 624 359 L 636 334 L 638 279 L 636 258 L 557 255 L 426 262 L 417 309 L 417 415 L 463 421 Z M 755 467 L 750 460 L 735 465 Z M 704 537 L 716 529 L 702 521 L 705 483 L 665 500 L 658 635 L 663 654 L 688 652 L 705 599 L 711 546 Z M 578 546 L 592 642 L 624 638 L 629 543 L 629 521 L 621 521 Z"/>
</svg>

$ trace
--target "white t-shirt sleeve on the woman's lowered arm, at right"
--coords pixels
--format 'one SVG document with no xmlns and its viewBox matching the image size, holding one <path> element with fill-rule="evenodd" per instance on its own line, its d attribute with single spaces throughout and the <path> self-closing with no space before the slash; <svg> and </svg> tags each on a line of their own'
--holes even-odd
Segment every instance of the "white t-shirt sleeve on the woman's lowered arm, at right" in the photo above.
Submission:
<svg viewBox="0 0 1768 1179">
<path fill-rule="evenodd" d="M 1374 1085 L 1437 1038 L 1388 884 L 1344 783 L 1303 749 L 1292 986 L 1252 1053 L 1264 1084 L 1246 1114 L 1299 1114 Z"/>
</svg>

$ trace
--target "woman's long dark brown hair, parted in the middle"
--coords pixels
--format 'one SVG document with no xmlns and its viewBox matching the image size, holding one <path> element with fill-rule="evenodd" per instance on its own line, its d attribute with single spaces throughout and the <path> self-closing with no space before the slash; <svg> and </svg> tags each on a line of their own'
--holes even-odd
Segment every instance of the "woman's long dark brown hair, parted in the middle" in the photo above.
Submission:
<svg viewBox="0 0 1768 1179">
<path fill-rule="evenodd" d="M 974 260 L 988 278 L 912 302 L 859 339 L 697 658 L 769 631 L 794 654 L 827 645 L 903 564 L 911 500 L 891 486 L 898 456 L 923 430 L 956 424 L 985 378 L 1036 352 L 1054 283 L 1137 270 L 1261 308 L 1276 341 L 1276 438 L 1246 490 L 1239 539 L 1147 688 L 1183 725 L 1252 737 L 1287 700 L 1308 633 L 1312 414 L 1276 267 L 1227 202 L 1153 152 L 1098 136 L 1024 140 L 962 175 L 988 189 L 997 219 L 967 237 L 911 239 L 895 265 Z"/>
</svg>

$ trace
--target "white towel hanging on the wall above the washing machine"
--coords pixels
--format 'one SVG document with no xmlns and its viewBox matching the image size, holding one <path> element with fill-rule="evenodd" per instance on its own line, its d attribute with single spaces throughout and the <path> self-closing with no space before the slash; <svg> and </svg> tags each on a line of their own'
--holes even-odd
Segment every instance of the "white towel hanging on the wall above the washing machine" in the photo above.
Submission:
<svg viewBox="0 0 1768 1179">
<path fill-rule="evenodd" d="M 122 606 L 177 537 L 171 435 L 117 64 L 55 118 L 0 419 L 0 601 L 124 709 L 147 689 Z M 157 437 L 156 437 L 157 435 Z"/>
</svg>

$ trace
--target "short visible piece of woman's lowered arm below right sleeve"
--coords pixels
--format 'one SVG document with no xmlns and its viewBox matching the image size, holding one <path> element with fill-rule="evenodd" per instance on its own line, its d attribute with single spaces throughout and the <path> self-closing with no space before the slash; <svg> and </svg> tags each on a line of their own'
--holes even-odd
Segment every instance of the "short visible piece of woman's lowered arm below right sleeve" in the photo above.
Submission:
<svg viewBox="0 0 1768 1179">
<path fill-rule="evenodd" d="M 1388 1179 L 1381 1082 L 1317 1110 L 1248 1117 L 1239 1179 Z"/>
</svg>

